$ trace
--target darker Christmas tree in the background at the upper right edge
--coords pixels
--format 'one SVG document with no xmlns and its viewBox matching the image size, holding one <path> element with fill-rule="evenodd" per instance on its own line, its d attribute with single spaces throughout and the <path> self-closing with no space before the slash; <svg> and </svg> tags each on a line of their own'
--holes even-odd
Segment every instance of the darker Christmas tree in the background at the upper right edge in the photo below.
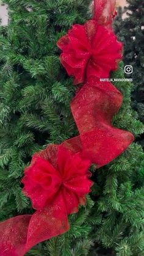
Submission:
<svg viewBox="0 0 144 256">
<path fill-rule="evenodd" d="M 144 90 L 143 90 L 143 40 L 144 40 L 144 7 L 143 1 L 127 0 L 125 7 L 128 16 L 120 21 L 120 32 L 118 37 L 124 42 L 124 64 L 132 65 L 133 72 L 130 75 L 134 82 L 134 92 L 132 93 L 133 106 L 139 114 L 139 118 L 144 122 Z M 143 136 L 141 139 L 143 143 Z"/>
</svg>

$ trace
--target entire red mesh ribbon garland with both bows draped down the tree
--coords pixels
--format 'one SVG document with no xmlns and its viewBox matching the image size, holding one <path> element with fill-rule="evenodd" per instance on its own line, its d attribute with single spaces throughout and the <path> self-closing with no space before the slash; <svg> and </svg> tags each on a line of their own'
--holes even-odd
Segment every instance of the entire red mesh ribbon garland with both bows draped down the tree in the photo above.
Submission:
<svg viewBox="0 0 144 256">
<path fill-rule="evenodd" d="M 113 84 L 99 80 L 109 78 L 122 58 L 122 44 L 112 31 L 115 0 L 97 0 L 93 6 L 93 19 L 74 25 L 57 42 L 63 67 L 74 84 L 83 84 L 71 102 L 79 136 L 33 156 L 22 183 L 36 211 L 1 222 L 2 256 L 23 256 L 35 244 L 67 232 L 68 214 L 85 205 L 90 192 L 90 165 L 104 166 L 134 140 L 112 126 L 123 96 Z"/>
</svg>

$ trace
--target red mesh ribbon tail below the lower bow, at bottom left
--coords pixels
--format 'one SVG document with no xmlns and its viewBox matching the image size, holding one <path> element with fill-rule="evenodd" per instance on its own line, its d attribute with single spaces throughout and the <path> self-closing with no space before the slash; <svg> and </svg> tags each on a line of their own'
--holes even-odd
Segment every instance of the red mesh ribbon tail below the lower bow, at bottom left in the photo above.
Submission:
<svg viewBox="0 0 144 256">
<path fill-rule="evenodd" d="M 62 203 L 62 197 L 59 200 Z M 67 232 L 70 229 L 67 211 L 60 203 L 57 208 L 53 205 L 33 215 L 1 222 L 0 255 L 23 256 L 36 244 Z"/>
</svg>

